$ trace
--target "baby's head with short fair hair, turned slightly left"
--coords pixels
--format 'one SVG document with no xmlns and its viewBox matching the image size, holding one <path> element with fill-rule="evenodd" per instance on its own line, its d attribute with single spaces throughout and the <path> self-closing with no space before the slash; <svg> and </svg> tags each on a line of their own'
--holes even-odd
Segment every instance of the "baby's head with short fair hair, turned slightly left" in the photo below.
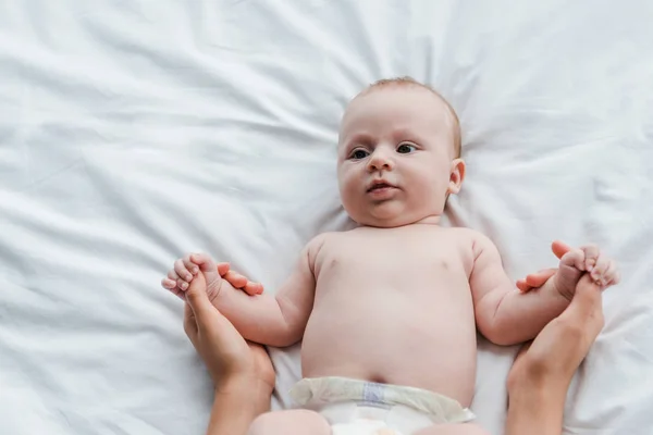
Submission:
<svg viewBox="0 0 653 435">
<path fill-rule="evenodd" d="M 378 227 L 438 223 L 464 177 L 458 117 L 435 90 L 411 78 L 384 79 L 347 107 L 337 178 L 354 221 Z"/>
</svg>

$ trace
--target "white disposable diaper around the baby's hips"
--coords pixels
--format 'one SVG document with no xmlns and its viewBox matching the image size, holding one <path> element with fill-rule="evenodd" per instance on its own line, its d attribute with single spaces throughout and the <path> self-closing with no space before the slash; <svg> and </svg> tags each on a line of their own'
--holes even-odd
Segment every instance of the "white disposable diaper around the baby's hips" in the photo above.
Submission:
<svg viewBox="0 0 653 435">
<path fill-rule="evenodd" d="M 323 415 L 333 435 L 409 435 L 439 423 L 465 423 L 476 415 L 436 393 L 346 377 L 299 381 L 297 405 Z"/>
</svg>

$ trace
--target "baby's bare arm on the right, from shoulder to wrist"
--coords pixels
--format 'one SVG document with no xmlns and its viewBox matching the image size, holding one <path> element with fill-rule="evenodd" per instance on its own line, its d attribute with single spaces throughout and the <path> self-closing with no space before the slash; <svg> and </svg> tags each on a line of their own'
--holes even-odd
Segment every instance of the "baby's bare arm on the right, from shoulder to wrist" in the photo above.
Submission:
<svg viewBox="0 0 653 435">
<path fill-rule="evenodd" d="M 509 346 L 534 338 L 569 304 L 554 285 L 554 277 L 537 290 L 520 293 L 505 273 L 494 244 L 478 235 L 469 285 L 477 326 L 490 341 Z"/>
</svg>

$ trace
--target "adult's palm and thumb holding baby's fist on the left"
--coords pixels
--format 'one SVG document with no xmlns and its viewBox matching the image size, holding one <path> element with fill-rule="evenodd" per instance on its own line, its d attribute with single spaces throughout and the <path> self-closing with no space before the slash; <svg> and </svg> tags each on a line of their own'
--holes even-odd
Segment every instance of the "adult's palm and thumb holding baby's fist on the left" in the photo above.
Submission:
<svg viewBox="0 0 653 435">
<path fill-rule="evenodd" d="M 186 295 L 184 331 L 204 360 L 215 391 L 241 388 L 249 383 L 269 403 L 274 388 L 274 369 L 259 345 L 246 341 L 213 307 L 206 291 L 204 273 L 198 273 Z"/>
</svg>

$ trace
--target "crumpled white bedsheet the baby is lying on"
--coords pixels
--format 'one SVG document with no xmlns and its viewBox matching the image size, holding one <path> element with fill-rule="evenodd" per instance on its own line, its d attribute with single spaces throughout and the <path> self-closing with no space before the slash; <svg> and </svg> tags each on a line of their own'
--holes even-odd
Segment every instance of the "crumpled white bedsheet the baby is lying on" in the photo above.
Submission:
<svg viewBox="0 0 653 435">
<path fill-rule="evenodd" d="M 653 433 L 653 4 L 646 1 L 0 2 L 0 433 L 200 434 L 211 387 L 159 287 L 205 250 L 274 291 L 349 225 L 338 119 L 409 74 L 457 109 L 448 221 L 514 278 L 550 243 L 621 264 L 566 434 Z M 481 343 L 500 434 L 514 348 Z M 274 350 L 275 408 L 298 376 Z M 407 370 L 409 370 L 407 368 Z"/>
</svg>

